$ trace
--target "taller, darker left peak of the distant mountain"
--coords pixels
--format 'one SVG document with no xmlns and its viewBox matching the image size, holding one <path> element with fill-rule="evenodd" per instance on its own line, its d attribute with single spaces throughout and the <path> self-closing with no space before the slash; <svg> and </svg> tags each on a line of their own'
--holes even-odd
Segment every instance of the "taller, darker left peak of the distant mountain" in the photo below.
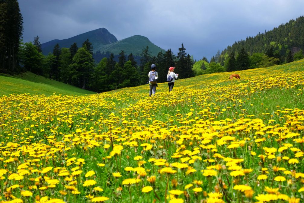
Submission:
<svg viewBox="0 0 304 203">
<path fill-rule="evenodd" d="M 58 43 L 60 48 L 66 47 L 70 48 L 71 45 L 76 42 L 78 47 L 81 47 L 82 43 L 89 39 L 89 41 L 92 43 L 94 52 L 97 51 L 95 49 L 96 45 L 104 45 L 104 44 L 110 44 L 113 42 L 116 42 L 117 39 L 114 35 L 109 33 L 109 31 L 105 28 L 99 28 L 97 30 L 92 30 L 86 33 L 82 33 L 79 35 L 76 35 L 74 37 L 64 39 L 64 40 L 51 40 L 49 42 L 41 44 L 41 48 L 43 51 L 43 54 L 47 55 L 49 52 L 53 53 L 54 46 Z"/>
</svg>

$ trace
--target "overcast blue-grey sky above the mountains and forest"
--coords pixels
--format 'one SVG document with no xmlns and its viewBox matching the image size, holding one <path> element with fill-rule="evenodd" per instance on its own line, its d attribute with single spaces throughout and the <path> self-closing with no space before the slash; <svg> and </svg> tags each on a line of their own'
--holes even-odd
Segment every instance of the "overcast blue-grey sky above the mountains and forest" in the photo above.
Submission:
<svg viewBox="0 0 304 203">
<path fill-rule="evenodd" d="M 67 39 L 105 28 L 117 40 L 133 35 L 177 54 L 210 60 L 235 41 L 304 15 L 303 0 L 19 0 L 23 41 Z"/>
</svg>

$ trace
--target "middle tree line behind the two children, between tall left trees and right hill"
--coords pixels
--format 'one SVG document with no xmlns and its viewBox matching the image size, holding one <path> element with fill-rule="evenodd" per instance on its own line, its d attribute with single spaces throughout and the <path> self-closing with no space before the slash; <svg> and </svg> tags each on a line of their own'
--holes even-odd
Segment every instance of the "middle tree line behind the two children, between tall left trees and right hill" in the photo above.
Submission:
<svg viewBox="0 0 304 203">
<path fill-rule="evenodd" d="M 180 78 L 194 76 L 192 57 L 185 52 L 184 45 L 175 56 L 171 49 L 152 56 L 149 47 L 143 47 L 140 64 L 137 64 L 133 54 L 126 55 L 122 50 L 118 61 L 114 54 L 102 58 L 97 64 L 93 59 L 92 43 L 87 39 L 81 47 L 76 43 L 70 48 L 54 46 L 53 53 L 44 56 L 41 51 L 39 37 L 21 46 L 20 63 L 24 70 L 43 75 L 47 78 L 64 82 L 82 89 L 104 92 L 123 87 L 133 87 L 146 84 L 151 64 L 157 65 L 159 82 L 165 82 L 170 66 L 180 71 Z"/>
</svg>

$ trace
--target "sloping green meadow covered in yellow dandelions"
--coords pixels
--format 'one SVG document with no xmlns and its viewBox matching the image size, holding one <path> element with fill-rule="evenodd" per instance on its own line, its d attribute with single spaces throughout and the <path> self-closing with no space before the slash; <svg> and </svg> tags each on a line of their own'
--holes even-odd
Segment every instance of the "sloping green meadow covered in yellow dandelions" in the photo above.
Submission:
<svg viewBox="0 0 304 203">
<path fill-rule="evenodd" d="M 301 202 L 303 66 L 2 96 L 0 202 Z"/>
</svg>

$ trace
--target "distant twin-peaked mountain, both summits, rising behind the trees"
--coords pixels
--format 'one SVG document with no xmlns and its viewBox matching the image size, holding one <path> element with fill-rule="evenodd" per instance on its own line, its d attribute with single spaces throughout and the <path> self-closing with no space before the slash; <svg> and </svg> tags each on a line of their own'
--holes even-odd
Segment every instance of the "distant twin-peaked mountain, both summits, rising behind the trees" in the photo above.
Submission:
<svg viewBox="0 0 304 203">
<path fill-rule="evenodd" d="M 71 45 L 76 42 L 78 47 L 81 47 L 82 43 L 89 39 L 92 43 L 93 52 L 108 52 L 114 55 L 119 54 L 122 50 L 125 54 L 140 55 L 144 47 L 149 47 L 149 51 L 153 56 L 156 56 L 164 49 L 156 46 L 147 37 L 134 35 L 132 37 L 125 38 L 117 41 L 116 37 L 109 33 L 105 28 L 99 28 L 92 30 L 75 37 L 71 37 L 64 40 L 51 40 L 49 42 L 41 44 L 43 54 L 47 55 L 49 52 L 53 53 L 54 46 L 58 43 L 60 48 L 70 48 Z"/>
</svg>

